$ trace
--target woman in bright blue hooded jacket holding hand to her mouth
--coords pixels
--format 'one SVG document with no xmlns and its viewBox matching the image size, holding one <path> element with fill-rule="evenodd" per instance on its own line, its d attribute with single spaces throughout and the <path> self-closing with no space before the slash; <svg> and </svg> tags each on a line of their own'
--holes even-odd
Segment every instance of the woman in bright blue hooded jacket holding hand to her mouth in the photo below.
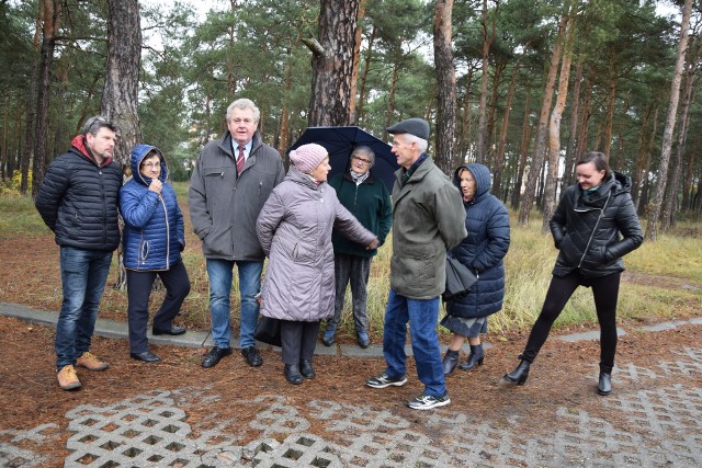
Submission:
<svg viewBox="0 0 702 468">
<path fill-rule="evenodd" d="M 129 355 L 138 361 L 160 361 L 148 347 L 146 327 L 149 296 L 158 275 L 166 298 L 154 317 L 154 334 L 183 334 L 173 318 L 190 293 L 190 279 L 180 256 L 185 248 L 183 215 L 176 192 L 167 183 L 168 168 L 160 150 L 137 145 L 132 150 L 132 180 L 120 191 L 124 218 L 124 267 L 127 273 Z"/>
</svg>

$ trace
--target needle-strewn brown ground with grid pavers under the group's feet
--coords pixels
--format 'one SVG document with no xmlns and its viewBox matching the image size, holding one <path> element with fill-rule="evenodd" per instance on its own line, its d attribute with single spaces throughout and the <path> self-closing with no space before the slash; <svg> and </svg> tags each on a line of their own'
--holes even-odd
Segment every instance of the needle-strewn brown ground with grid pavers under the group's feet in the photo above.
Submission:
<svg viewBox="0 0 702 468">
<path fill-rule="evenodd" d="M 55 299 L 34 295 L 49 281 L 60 297 L 49 239 L 0 239 L 0 301 L 54 310 Z M 665 277 L 625 281 L 701 289 Z M 449 376 L 451 406 L 418 412 L 405 406 L 422 389 L 411 358 L 407 386 L 364 385 L 384 369 L 377 344 L 372 357 L 319 355 L 317 378 L 291 386 L 271 349 L 259 368 L 235 353 L 203 369 L 204 349 L 154 345 L 163 362 L 145 365 L 129 358 L 125 340 L 95 336 L 92 351 L 110 368 L 79 369 L 83 387 L 61 391 L 54 329 L 0 316 L 0 466 L 695 466 L 700 317 L 661 331 L 622 323 L 609 397 L 596 391 L 592 339 L 552 336 L 526 385 L 503 385 L 526 339 L 513 333 L 491 343 L 477 370 Z M 128 437 L 149 424 L 147 438 Z M 314 457 L 304 465 L 306 453 Z"/>
</svg>

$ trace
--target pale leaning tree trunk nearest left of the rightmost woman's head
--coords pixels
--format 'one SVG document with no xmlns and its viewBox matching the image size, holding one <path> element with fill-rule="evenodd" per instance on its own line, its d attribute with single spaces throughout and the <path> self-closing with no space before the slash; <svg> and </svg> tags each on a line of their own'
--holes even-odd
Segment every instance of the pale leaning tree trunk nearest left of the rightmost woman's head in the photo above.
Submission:
<svg viewBox="0 0 702 468">
<path fill-rule="evenodd" d="M 544 184 L 543 197 L 543 222 L 541 230 L 548 232 L 548 221 L 556 209 L 556 187 L 558 184 L 558 162 L 561 160 L 561 118 L 563 110 L 566 107 L 568 96 L 568 79 L 570 78 L 570 64 L 573 61 L 573 39 L 575 37 L 575 24 L 570 21 L 565 34 L 565 48 L 563 50 L 563 62 L 561 64 L 561 77 L 558 79 L 558 93 L 556 105 L 551 113 L 548 125 L 548 170 Z"/>
</svg>

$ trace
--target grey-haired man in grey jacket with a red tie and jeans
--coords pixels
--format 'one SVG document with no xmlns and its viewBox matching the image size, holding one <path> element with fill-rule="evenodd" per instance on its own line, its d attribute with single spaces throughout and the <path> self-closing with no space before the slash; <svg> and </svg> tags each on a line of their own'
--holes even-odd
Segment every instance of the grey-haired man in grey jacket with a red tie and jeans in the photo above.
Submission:
<svg viewBox="0 0 702 468">
<path fill-rule="evenodd" d="M 205 145 L 190 181 L 190 217 L 202 240 L 210 277 L 214 346 L 202 362 L 205 368 L 231 354 L 229 294 L 235 264 L 241 354 L 250 366 L 263 364 L 253 340 L 265 258 L 256 236 L 256 219 L 273 187 L 285 178 L 285 169 L 280 153 L 261 141 L 257 132 L 260 115 L 250 100 L 234 101 L 227 107 L 228 132 Z"/>
</svg>

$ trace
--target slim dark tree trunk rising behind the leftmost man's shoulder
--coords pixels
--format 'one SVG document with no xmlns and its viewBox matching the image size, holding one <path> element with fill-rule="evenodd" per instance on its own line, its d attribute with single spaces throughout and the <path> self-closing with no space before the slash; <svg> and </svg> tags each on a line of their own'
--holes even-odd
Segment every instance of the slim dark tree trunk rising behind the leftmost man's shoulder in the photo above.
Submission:
<svg viewBox="0 0 702 468">
<path fill-rule="evenodd" d="M 34 160 L 32 164 L 32 197 L 36 196 L 44 180 L 46 165 L 46 141 L 48 139 L 48 102 L 52 85 L 54 49 L 60 25 L 64 2 L 43 0 L 44 20 L 42 23 L 42 48 L 38 72 L 38 92 L 36 96 L 36 130 L 34 134 Z"/>
</svg>

